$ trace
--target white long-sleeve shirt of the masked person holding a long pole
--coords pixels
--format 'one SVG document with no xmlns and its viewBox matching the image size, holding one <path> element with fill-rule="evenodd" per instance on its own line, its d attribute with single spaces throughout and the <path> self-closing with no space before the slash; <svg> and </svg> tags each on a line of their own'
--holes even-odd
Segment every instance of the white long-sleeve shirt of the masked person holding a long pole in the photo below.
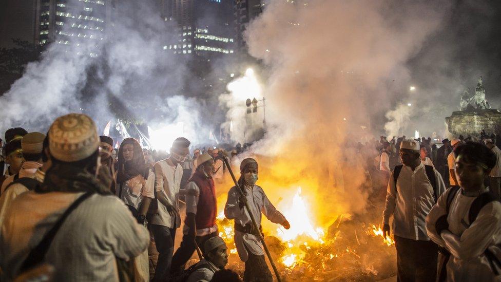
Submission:
<svg viewBox="0 0 501 282">
<path fill-rule="evenodd" d="M 224 206 L 224 215 L 228 219 L 235 219 L 235 223 L 242 226 L 252 224 L 251 216 L 249 216 L 245 207 L 242 209 L 239 207 L 238 199 L 240 198 L 240 193 L 237 189 L 238 188 L 234 186 L 229 190 L 228 199 Z M 252 215 L 258 226 L 261 225 L 261 213 L 273 223 L 281 224 L 285 221 L 285 217 L 275 209 L 275 206 L 268 200 L 268 197 L 260 186 L 245 186 L 244 189 L 247 193 L 245 198 L 247 199 L 249 208 L 251 208 Z M 255 255 L 264 255 L 263 246 L 257 236 L 235 230 L 234 239 L 238 255 L 242 261 L 248 259 L 248 253 L 245 247 Z"/>
</svg>

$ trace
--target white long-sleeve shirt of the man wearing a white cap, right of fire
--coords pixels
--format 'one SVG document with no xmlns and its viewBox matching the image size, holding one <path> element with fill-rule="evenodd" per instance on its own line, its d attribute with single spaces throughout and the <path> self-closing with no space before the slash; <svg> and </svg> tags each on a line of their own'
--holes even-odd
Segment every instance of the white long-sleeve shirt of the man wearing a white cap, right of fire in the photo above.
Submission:
<svg viewBox="0 0 501 282">
<path fill-rule="evenodd" d="M 445 191 L 444 180 L 434 170 L 438 195 Z M 435 192 L 426 175 L 425 165 L 419 164 L 413 171 L 404 165 L 397 179 L 397 186 L 390 175 L 383 224 L 390 223 L 393 215 L 393 234 L 413 240 L 430 240 L 426 232 L 426 216 L 435 204 Z"/>
</svg>

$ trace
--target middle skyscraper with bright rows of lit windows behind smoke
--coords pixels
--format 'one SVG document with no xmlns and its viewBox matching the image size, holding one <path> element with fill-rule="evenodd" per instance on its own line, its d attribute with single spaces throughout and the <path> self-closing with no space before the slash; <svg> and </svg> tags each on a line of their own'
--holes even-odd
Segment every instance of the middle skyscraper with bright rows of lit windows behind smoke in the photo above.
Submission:
<svg viewBox="0 0 501 282">
<path fill-rule="evenodd" d="M 166 21 L 174 20 L 180 28 L 178 42 L 164 49 L 176 54 L 196 54 L 210 60 L 222 54 L 233 54 L 232 0 L 163 0 Z"/>
</svg>

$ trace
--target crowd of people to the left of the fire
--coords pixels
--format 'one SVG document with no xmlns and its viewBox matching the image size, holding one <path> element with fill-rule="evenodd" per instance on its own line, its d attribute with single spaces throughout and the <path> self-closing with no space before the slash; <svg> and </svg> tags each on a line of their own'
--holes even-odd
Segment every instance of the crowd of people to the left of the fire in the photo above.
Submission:
<svg viewBox="0 0 501 282">
<path fill-rule="evenodd" d="M 113 145 L 83 114 L 57 118 L 47 134 L 21 127 L 6 131 L 1 280 L 241 281 L 225 269 L 228 248 L 216 223 L 216 186 L 222 182 L 214 176 L 223 170 L 224 156 L 217 149 L 196 149 L 186 165 L 190 141 L 183 137 L 157 162 L 136 139 L 124 139 L 116 159 Z M 256 185 L 258 162 L 245 158 L 239 166 L 224 215 L 234 220 L 243 280 L 272 281 L 259 239 L 261 218 L 286 229 L 290 224 Z M 186 214 L 178 230 L 182 197 Z M 159 253 L 152 277 L 150 236 Z M 182 237 L 177 250 L 176 236 Z M 200 261 L 186 269 L 195 252 Z"/>
</svg>

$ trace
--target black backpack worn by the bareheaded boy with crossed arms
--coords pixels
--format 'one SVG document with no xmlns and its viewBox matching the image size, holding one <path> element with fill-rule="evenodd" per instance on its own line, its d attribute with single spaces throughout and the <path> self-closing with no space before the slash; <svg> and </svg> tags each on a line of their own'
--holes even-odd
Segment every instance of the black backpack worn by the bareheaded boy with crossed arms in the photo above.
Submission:
<svg viewBox="0 0 501 282">
<path fill-rule="evenodd" d="M 449 214 L 452 201 L 454 200 L 454 197 L 456 196 L 457 192 L 460 189 L 461 189 L 460 186 L 452 186 L 449 188 L 451 192 L 449 192 L 449 195 L 447 195 L 447 204 L 446 204 L 447 214 Z M 473 221 L 475 221 L 482 208 L 484 208 L 485 205 L 493 201 L 497 200 L 489 192 L 483 193 L 480 196 L 478 196 L 475 200 L 473 200 L 470 206 L 470 211 L 468 212 L 468 227 L 470 227 Z M 501 273 L 501 257 L 499 256 L 500 253 L 501 253 L 501 246 L 499 245 L 490 246 L 485 251 L 485 255 L 487 257 L 487 260 L 489 261 L 489 265 L 494 274 L 496 274 L 496 276 Z"/>
</svg>

